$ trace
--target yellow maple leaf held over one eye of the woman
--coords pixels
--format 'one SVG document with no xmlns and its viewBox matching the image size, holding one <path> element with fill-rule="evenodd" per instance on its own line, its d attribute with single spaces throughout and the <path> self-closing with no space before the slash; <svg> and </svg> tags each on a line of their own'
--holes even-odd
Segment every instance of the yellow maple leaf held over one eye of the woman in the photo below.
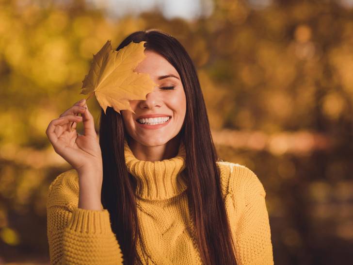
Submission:
<svg viewBox="0 0 353 265">
<path fill-rule="evenodd" d="M 124 48 L 112 50 L 111 41 L 93 55 L 93 61 L 88 74 L 82 81 L 80 94 L 93 94 L 106 113 L 107 107 L 116 112 L 131 109 L 129 100 L 145 100 L 146 95 L 158 84 L 154 83 L 147 73 L 137 73 L 133 70 L 144 60 L 144 43 L 130 42 Z"/>
</svg>

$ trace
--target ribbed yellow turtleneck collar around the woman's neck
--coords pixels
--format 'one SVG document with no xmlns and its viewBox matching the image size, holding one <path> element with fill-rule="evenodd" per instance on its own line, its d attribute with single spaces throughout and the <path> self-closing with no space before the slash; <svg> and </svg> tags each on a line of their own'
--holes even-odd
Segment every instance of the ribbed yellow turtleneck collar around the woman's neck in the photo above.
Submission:
<svg viewBox="0 0 353 265">
<path fill-rule="evenodd" d="M 175 197 L 186 190 L 181 173 L 185 168 L 186 151 L 181 141 L 178 153 L 161 161 L 138 160 L 128 142 L 124 141 L 125 163 L 128 172 L 137 181 L 135 195 L 141 199 L 163 200 Z"/>
</svg>

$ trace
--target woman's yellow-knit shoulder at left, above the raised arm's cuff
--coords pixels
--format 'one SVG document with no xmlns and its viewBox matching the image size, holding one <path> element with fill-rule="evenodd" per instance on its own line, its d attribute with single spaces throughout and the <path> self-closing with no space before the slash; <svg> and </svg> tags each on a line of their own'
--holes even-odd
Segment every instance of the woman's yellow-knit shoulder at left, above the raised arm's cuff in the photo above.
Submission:
<svg viewBox="0 0 353 265">
<path fill-rule="evenodd" d="M 79 176 L 75 169 L 58 175 L 49 185 L 47 207 L 78 204 Z"/>
</svg>

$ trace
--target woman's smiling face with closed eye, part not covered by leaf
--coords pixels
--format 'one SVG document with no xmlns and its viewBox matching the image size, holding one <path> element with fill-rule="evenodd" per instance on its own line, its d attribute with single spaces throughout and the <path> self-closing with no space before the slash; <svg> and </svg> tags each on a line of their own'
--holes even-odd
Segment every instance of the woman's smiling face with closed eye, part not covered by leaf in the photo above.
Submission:
<svg viewBox="0 0 353 265">
<path fill-rule="evenodd" d="M 131 138 L 144 146 L 159 146 L 180 131 L 186 113 L 186 97 L 176 69 L 154 51 L 145 50 L 144 54 L 145 59 L 134 71 L 148 73 L 159 87 L 154 87 L 146 100 L 130 100 L 136 114 L 128 110 L 120 112 Z"/>
</svg>

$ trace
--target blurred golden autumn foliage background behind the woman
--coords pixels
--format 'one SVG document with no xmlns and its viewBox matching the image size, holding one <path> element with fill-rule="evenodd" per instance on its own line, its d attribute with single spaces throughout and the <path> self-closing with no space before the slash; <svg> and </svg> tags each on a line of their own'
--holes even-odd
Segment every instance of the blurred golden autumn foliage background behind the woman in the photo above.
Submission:
<svg viewBox="0 0 353 265">
<path fill-rule="evenodd" d="M 263 183 L 275 264 L 353 264 L 353 0 L 1 0 L 0 264 L 48 264 L 70 168 L 48 123 L 108 39 L 151 28 L 193 58 L 220 158 Z"/>
</svg>

